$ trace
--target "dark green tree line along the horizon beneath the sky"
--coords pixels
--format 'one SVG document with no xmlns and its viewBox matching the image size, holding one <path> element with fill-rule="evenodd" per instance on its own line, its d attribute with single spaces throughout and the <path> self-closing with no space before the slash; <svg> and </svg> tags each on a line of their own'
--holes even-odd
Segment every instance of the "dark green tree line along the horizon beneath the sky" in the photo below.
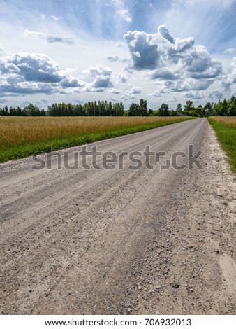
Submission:
<svg viewBox="0 0 236 329">
<path fill-rule="evenodd" d="M 39 109 L 34 104 L 20 106 L 3 106 L 0 116 L 236 116 L 236 98 L 218 103 L 207 102 L 205 106 L 195 106 L 193 101 L 187 100 L 184 104 L 177 104 L 176 109 L 169 109 L 168 104 L 161 104 L 158 110 L 147 109 L 147 100 L 140 99 L 139 104 L 132 103 L 128 111 L 124 110 L 122 102 L 107 101 L 87 102 L 85 104 L 54 103 L 47 106 L 47 110 Z"/>
</svg>

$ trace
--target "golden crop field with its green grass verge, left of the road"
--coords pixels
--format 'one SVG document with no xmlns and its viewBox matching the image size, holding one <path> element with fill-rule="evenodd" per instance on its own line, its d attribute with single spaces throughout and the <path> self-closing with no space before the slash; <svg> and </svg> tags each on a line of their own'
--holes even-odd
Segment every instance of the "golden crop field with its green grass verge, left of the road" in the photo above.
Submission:
<svg viewBox="0 0 236 329">
<path fill-rule="evenodd" d="M 0 117 L 0 162 L 141 132 L 191 117 Z"/>
</svg>

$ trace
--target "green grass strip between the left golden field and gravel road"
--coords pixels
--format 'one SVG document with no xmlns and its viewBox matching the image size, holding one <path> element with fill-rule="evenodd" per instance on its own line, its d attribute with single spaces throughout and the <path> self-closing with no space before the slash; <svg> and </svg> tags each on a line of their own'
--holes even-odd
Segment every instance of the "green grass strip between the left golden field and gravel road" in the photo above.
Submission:
<svg viewBox="0 0 236 329">
<path fill-rule="evenodd" d="M 151 130 L 157 127 L 163 127 L 165 125 L 171 125 L 172 123 L 179 123 L 184 120 L 191 120 L 192 118 L 178 118 L 176 120 L 161 123 L 152 123 L 147 125 L 138 125 L 137 127 L 121 127 L 118 130 L 110 130 L 108 132 L 94 132 L 89 134 L 76 134 L 73 136 L 66 136 L 61 138 L 47 139 L 37 141 L 34 143 L 24 143 L 13 146 L 3 146 L 0 149 L 0 162 L 6 162 L 8 160 L 15 160 L 25 158 L 33 154 L 39 154 L 47 152 L 47 146 L 52 146 L 52 151 L 60 150 L 63 148 L 70 148 L 72 146 L 79 146 L 94 141 L 101 141 L 104 139 L 110 139 L 114 137 L 124 136 L 126 134 L 134 134 L 135 132 L 142 132 L 144 130 Z"/>
</svg>

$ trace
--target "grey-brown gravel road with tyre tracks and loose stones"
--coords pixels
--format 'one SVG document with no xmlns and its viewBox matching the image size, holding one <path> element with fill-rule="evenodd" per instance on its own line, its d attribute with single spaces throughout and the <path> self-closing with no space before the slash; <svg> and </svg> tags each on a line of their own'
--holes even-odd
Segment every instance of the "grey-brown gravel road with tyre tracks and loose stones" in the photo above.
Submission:
<svg viewBox="0 0 236 329">
<path fill-rule="evenodd" d="M 202 169 L 188 165 L 189 145 Z M 55 155 L 50 170 L 1 164 L 1 314 L 234 314 L 235 181 L 207 120 L 93 146 L 165 156 L 154 169 L 140 153 L 140 169 L 127 157 L 123 169 L 80 158 L 59 170 Z M 70 163 L 81 150 L 67 150 Z"/>
</svg>

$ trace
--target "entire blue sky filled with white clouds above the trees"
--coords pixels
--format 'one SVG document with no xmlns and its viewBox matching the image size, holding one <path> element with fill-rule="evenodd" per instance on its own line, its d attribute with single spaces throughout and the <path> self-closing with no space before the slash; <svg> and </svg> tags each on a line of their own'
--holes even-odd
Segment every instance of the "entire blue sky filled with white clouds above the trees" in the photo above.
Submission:
<svg viewBox="0 0 236 329">
<path fill-rule="evenodd" d="M 0 0 L 0 106 L 236 92 L 236 0 Z"/>
</svg>

